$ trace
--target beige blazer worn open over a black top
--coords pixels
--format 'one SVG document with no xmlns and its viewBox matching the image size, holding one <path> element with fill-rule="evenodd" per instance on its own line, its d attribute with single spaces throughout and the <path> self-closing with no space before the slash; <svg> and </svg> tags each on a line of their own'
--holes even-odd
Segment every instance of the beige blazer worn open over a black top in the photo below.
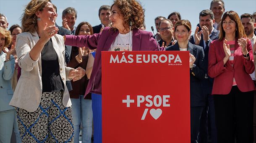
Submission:
<svg viewBox="0 0 256 143">
<path fill-rule="evenodd" d="M 10 105 L 34 112 L 39 106 L 42 94 L 42 64 L 41 54 L 37 61 L 34 61 L 29 56 L 29 51 L 35 46 L 39 36 L 37 32 L 24 32 L 18 34 L 16 38 L 16 52 L 18 56 L 18 65 L 21 67 L 21 77 L 18 80 L 17 87 L 14 91 Z M 62 36 L 56 34 L 52 36 L 52 45 L 57 53 L 60 64 L 60 77 L 65 85 L 63 93 L 63 105 L 71 106 L 68 89 L 65 81 L 68 79 L 69 72 L 73 69 L 66 67 L 65 63 L 65 46 Z"/>
</svg>

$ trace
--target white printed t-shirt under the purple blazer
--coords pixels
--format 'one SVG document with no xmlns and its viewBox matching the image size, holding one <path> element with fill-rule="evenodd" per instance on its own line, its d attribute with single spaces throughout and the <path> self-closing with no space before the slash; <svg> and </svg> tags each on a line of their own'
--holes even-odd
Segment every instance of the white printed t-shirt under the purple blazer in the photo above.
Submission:
<svg viewBox="0 0 256 143">
<path fill-rule="evenodd" d="M 126 33 L 126 34 L 119 33 L 118 36 L 116 36 L 114 42 L 111 44 L 109 51 L 129 51 L 129 33 Z M 133 31 L 131 31 L 131 43 L 130 43 L 131 51 L 132 51 L 132 43 L 133 43 L 132 35 L 133 35 Z"/>
</svg>

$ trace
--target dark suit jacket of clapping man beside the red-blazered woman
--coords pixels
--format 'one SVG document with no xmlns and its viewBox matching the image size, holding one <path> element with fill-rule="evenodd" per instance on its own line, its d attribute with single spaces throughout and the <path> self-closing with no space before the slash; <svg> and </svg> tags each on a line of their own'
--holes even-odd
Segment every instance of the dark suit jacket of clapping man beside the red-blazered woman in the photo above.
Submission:
<svg viewBox="0 0 256 143">
<path fill-rule="evenodd" d="M 218 39 L 218 38 L 219 38 L 219 31 L 214 28 L 213 31 L 212 31 L 212 33 L 211 33 L 210 39 L 209 39 L 209 44 L 210 44 L 212 41 L 214 41 L 214 40 L 216 40 L 216 39 Z M 191 43 L 195 44 L 194 39 L 195 39 L 195 35 L 192 35 L 189 41 L 190 41 Z M 204 49 L 204 61 L 205 61 L 204 63 L 206 64 L 206 65 L 204 66 L 204 67 L 206 68 L 206 69 L 204 69 L 204 70 L 206 71 L 206 76 L 205 76 L 206 78 L 204 79 L 204 81 L 203 81 L 203 83 L 202 83 L 202 86 L 203 86 L 203 88 L 204 88 L 204 94 L 205 94 L 205 95 L 212 94 L 212 86 L 213 86 L 213 80 L 214 80 L 213 78 L 211 78 L 211 77 L 209 77 L 209 76 L 207 75 L 207 73 L 208 73 L 208 53 L 209 53 L 209 44 L 204 47 L 204 38 L 203 38 L 203 34 L 201 34 L 201 41 L 200 41 L 200 43 L 199 43 L 199 46 L 203 47 L 203 49 Z M 207 78 L 207 77 L 208 77 L 208 78 Z M 207 98 L 207 97 L 206 97 L 206 98 Z"/>
</svg>

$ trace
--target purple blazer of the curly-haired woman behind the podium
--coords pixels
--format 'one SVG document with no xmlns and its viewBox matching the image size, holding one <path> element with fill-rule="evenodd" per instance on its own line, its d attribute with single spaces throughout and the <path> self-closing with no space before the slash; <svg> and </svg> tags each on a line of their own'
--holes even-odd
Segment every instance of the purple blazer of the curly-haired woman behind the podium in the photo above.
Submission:
<svg viewBox="0 0 256 143">
<path fill-rule="evenodd" d="M 65 45 L 77 47 L 89 47 L 89 49 L 96 49 L 96 56 L 94 65 L 91 71 L 91 78 L 86 88 L 85 96 L 89 92 L 102 94 L 102 66 L 101 66 L 101 51 L 109 51 L 111 44 L 118 36 L 118 30 L 114 31 L 113 28 L 105 27 L 102 33 L 85 36 L 66 35 Z M 153 34 L 148 31 L 133 29 L 133 51 L 155 51 L 158 50 L 157 42 L 153 38 Z M 160 48 L 161 51 L 165 49 Z"/>
</svg>

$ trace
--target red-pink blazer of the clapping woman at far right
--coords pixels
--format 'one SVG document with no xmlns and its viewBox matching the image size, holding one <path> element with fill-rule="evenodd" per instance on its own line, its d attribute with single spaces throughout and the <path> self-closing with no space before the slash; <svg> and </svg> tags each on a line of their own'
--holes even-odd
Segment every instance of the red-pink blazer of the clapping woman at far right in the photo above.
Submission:
<svg viewBox="0 0 256 143">
<path fill-rule="evenodd" d="M 233 66 L 230 61 L 224 65 L 223 58 L 225 52 L 223 49 L 223 40 L 214 40 L 210 44 L 208 75 L 214 78 L 212 94 L 228 94 L 231 91 L 233 78 L 238 89 L 241 92 L 255 90 L 255 86 L 249 74 L 254 71 L 253 52 L 251 49 L 251 41 L 247 44 L 250 60 L 243 57 L 241 47 L 238 45 L 238 39 L 235 39 L 235 53 Z"/>
</svg>

